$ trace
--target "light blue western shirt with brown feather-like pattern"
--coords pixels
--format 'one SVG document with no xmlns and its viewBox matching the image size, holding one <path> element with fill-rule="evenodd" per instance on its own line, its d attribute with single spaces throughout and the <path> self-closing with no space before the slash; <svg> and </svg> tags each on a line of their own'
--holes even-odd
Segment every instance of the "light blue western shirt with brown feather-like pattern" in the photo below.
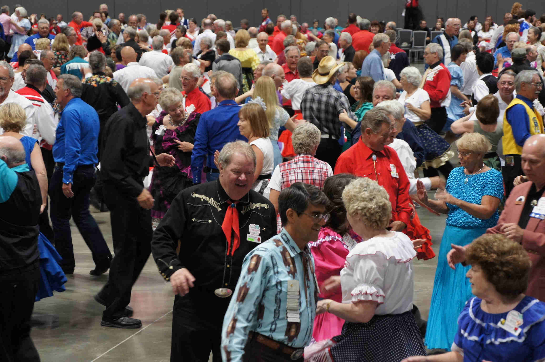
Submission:
<svg viewBox="0 0 545 362">
<path fill-rule="evenodd" d="M 300 286 L 300 322 L 288 322 L 288 282 L 295 280 Z M 293 348 L 308 345 L 312 338 L 317 298 L 318 283 L 312 254 L 308 246 L 301 251 L 282 228 L 280 234 L 244 258 L 237 288 L 223 318 L 223 361 L 242 360 L 251 331 Z"/>
</svg>

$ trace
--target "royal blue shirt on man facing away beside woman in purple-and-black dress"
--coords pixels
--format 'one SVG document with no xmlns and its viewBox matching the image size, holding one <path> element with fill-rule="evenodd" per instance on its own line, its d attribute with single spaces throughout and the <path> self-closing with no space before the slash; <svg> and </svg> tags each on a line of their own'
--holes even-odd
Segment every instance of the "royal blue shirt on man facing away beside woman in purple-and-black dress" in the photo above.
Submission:
<svg viewBox="0 0 545 362">
<path fill-rule="evenodd" d="M 216 168 L 214 165 L 216 149 L 221 151 L 227 142 L 247 141 L 238 129 L 239 111 L 240 106 L 237 102 L 228 99 L 221 101 L 213 110 L 201 114 L 191 154 L 193 183 L 201 182 L 201 170 L 205 160 L 206 166 Z"/>
</svg>

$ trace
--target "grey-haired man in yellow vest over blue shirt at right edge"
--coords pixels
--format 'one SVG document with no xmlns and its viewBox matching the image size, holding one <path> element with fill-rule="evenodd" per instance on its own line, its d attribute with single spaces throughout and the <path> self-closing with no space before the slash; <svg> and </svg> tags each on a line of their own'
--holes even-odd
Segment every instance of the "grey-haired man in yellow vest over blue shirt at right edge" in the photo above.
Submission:
<svg viewBox="0 0 545 362">
<path fill-rule="evenodd" d="M 504 137 L 505 166 L 501 167 L 505 194 L 513 189 L 513 180 L 523 174 L 520 155 L 524 142 L 532 135 L 543 134 L 543 120 L 534 107 L 534 100 L 543 89 L 540 75 L 535 70 L 523 70 L 514 79 L 517 96 L 505 110 Z"/>
</svg>

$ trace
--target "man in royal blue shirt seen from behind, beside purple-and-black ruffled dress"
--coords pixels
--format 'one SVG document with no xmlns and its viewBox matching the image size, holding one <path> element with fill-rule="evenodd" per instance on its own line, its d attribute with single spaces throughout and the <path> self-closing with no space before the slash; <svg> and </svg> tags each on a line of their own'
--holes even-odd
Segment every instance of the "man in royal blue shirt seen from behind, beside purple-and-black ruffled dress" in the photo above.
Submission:
<svg viewBox="0 0 545 362">
<path fill-rule="evenodd" d="M 193 183 L 201 183 L 201 170 L 207 173 L 206 180 L 216 180 L 220 174 L 214 165 L 214 153 L 221 151 L 227 142 L 247 141 L 238 129 L 240 106 L 234 101 L 238 93 L 235 77 L 227 72 L 216 77 L 217 107 L 201 114 L 195 143 L 191 154 L 191 172 Z M 205 164 L 206 162 L 206 164 Z"/>
</svg>

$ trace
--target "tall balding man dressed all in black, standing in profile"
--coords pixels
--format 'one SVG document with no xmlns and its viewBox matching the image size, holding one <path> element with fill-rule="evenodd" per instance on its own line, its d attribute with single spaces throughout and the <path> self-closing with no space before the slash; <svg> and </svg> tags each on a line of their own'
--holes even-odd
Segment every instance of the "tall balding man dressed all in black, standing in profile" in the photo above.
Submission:
<svg viewBox="0 0 545 362">
<path fill-rule="evenodd" d="M 95 295 L 106 306 L 101 325 L 118 328 L 140 328 L 140 319 L 130 318 L 126 308 L 131 288 L 138 279 L 150 254 L 152 216 L 149 209 L 153 197 L 143 186 L 143 179 L 155 160 L 160 166 L 174 165 L 173 156 L 161 153 L 149 156 L 146 115 L 154 110 L 159 98 L 157 83 L 138 78 L 127 92 L 131 102 L 112 114 L 102 137 L 105 156 L 101 162 L 104 197 L 110 209 L 115 256 L 108 282 Z"/>
</svg>

